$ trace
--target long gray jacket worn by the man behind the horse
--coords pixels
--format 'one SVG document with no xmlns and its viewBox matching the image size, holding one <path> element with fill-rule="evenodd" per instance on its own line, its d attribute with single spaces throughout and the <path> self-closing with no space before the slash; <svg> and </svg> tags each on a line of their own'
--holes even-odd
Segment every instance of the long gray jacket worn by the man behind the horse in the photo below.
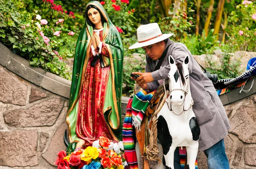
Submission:
<svg viewBox="0 0 256 169">
<path fill-rule="evenodd" d="M 204 151 L 223 139 L 230 129 L 229 120 L 225 109 L 219 99 L 212 81 L 204 75 L 198 63 L 192 57 L 187 47 L 182 43 L 175 43 L 168 39 L 166 47 L 169 46 L 161 68 L 154 71 L 156 61 L 146 56 L 146 72 L 152 72 L 153 82 L 148 83 L 148 90 L 156 90 L 159 83 L 157 80 L 168 79 L 170 70 L 169 55 L 175 59 L 175 62 L 183 63 L 183 60 L 189 55 L 189 80 L 191 95 L 194 100 L 193 111 L 198 120 L 201 129 L 199 139 L 199 149 Z"/>
</svg>

